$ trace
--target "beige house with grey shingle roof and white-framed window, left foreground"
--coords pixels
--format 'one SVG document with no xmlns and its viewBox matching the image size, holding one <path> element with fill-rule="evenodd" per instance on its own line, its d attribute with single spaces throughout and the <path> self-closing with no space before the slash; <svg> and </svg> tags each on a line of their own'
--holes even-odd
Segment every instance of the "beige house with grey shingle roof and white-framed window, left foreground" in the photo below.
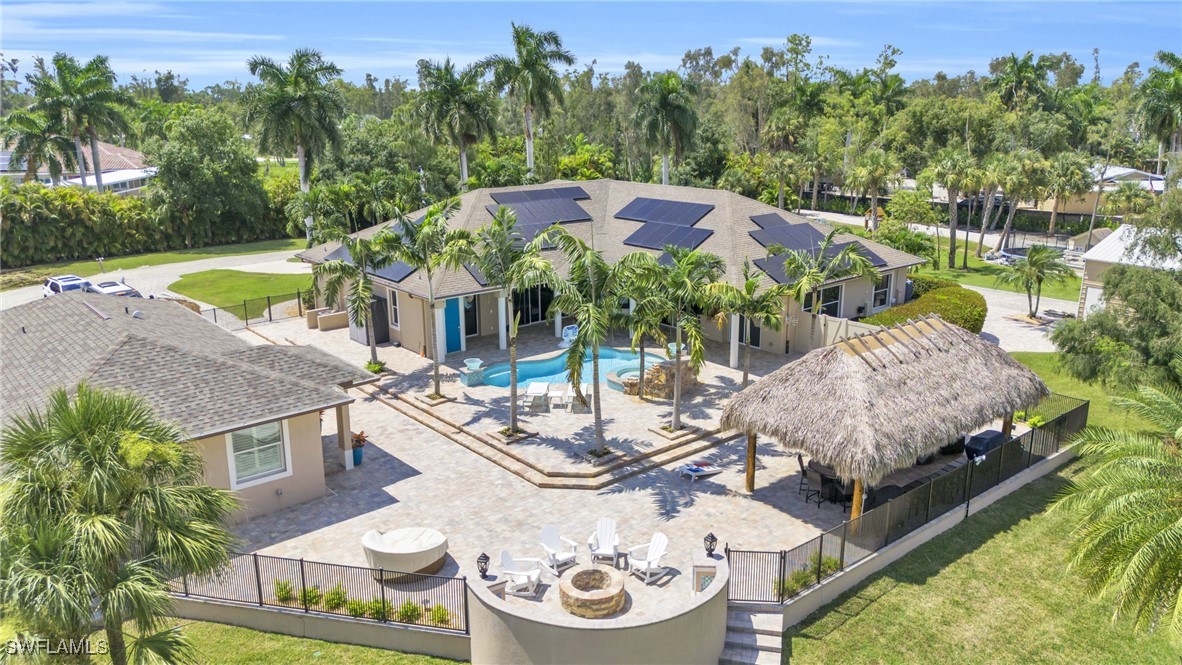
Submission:
<svg viewBox="0 0 1182 665">
<path fill-rule="evenodd" d="M 4 419 L 82 382 L 143 397 L 191 437 L 206 481 L 235 490 L 241 517 L 325 494 L 324 410 L 352 467 L 345 389 L 377 380 L 317 348 L 252 346 L 167 300 L 63 293 L 0 311 L 0 337 Z"/>
</svg>

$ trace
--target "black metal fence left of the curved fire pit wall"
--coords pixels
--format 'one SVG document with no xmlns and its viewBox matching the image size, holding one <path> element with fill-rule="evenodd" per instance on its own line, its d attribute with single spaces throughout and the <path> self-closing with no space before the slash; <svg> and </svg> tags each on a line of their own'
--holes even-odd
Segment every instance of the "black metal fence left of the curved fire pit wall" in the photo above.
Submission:
<svg viewBox="0 0 1182 665">
<path fill-rule="evenodd" d="M 186 575 L 170 586 L 184 598 L 468 632 L 466 578 L 235 554 L 214 575 Z"/>
</svg>

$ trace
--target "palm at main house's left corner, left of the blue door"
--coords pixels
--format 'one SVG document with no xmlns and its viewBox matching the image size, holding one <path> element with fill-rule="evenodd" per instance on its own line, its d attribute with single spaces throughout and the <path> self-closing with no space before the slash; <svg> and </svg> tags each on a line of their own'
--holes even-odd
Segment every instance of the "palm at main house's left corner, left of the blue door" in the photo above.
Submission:
<svg viewBox="0 0 1182 665">
<path fill-rule="evenodd" d="M 389 245 L 382 241 L 384 235 L 391 233 L 387 227 L 371 236 L 355 237 L 337 227 L 322 228 L 320 241 L 339 242 L 349 252 L 349 260 L 335 259 L 312 267 L 313 287 L 319 292 L 323 283 L 329 302 L 336 302 L 340 291 L 345 291 L 345 311 L 353 325 L 365 328 L 370 363 L 374 365 L 378 364 L 378 359 L 374 326 L 370 325 L 374 312 L 374 279 L 370 274 L 394 262 Z"/>
</svg>

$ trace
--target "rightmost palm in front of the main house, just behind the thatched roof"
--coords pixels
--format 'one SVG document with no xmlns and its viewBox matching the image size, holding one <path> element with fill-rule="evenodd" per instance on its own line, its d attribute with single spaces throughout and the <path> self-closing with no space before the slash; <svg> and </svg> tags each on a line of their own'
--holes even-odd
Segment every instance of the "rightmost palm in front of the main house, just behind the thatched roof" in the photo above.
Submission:
<svg viewBox="0 0 1182 665">
<path fill-rule="evenodd" d="M 825 285 L 845 278 L 870 276 L 878 279 L 870 259 L 857 242 L 840 245 L 834 241 L 843 229 L 834 228 L 813 249 L 785 249 L 781 245 L 767 248 L 768 256 L 784 256 L 784 274 L 788 278 L 788 294 L 800 304 L 811 301 L 812 314 L 808 346 L 816 347 L 817 314 L 820 313 L 820 292 Z"/>
</svg>

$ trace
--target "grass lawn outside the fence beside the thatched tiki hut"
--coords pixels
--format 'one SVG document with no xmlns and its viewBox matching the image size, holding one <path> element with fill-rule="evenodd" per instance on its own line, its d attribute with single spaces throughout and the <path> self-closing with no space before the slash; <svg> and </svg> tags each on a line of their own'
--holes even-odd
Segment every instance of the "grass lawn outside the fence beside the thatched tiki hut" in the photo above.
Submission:
<svg viewBox="0 0 1182 665">
<path fill-rule="evenodd" d="M 1103 389 L 1054 367 L 1053 353 L 1015 353 L 1056 392 L 1091 399 L 1089 423 L 1136 426 Z M 1073 462 L 968 519 L 785 633 L 808 663 L 1175 663 L 1164 633 L 1112 625 L 1065 569 L 1073 517 L 1046 513 Z"/>
</svg>

